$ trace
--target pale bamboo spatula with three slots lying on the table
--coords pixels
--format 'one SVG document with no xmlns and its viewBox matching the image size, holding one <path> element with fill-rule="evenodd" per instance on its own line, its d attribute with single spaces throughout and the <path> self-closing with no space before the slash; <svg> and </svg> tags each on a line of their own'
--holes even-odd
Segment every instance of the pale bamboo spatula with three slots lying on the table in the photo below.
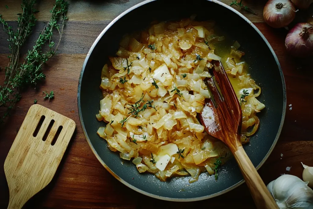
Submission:
<svg viewBox="0 0 313 209">
<path fill-rule="evenodd" d="M 10 200 L 19 209 L 52 180 L 75 122 L 46 107 L 31 106 L 4 162 Z"/>
</svg>

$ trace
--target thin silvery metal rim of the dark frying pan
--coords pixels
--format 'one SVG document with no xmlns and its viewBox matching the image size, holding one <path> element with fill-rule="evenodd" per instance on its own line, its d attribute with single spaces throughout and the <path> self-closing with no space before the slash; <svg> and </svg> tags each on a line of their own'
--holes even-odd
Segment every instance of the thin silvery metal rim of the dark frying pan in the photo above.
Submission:
<svg viewBox="0 0 313 209">
<path fill-rule="evenodd" d="M 82 119 L 82 113 L 81 113 L 81 106 L 80 106 L 80 89 L 81 89 L 81 81 L 82 81 L 82 77 L 83 77 L 83 74 L 84 74 L 84 71 L 85 71 L 85 66 L 88 62 L 88 59 L 90 57 L 90 54 L 91 52 L 93 51 L 93 49 L 95 48 L 95 46 L 98 44 L 99 40 L 102 38 L 102 36 L 105 34 L 105 32 L 113 25 L 115 24 L 115 22 L 117 22 L 121 17 L 123 17 L 125 14 L 131 12 L 132 10 L 138 8 L 138 7 L 141 7 L 142 5 L 145 5 L 147 3 L 150 3 L 150 2 L 154 2 L 154 1 L 157 1 L 157 0 L 146 0 L 146 1 L 143 1 L 141 3 L 138 3 L 134 6 L 132 6 L 131 8 L 127 9 L 126 11 L 124 11 L 123 13 L 121 13 L 119 16 L 117 16 L 114 20 L 112 20 L 110 22 L 110 24 L 108 24 L 105 29 L 102 30 L 102 32 L 99 34 L 99 36 L 96 38 L 95 42 L 92 44 L 92 46 L 90 47 L 90 50 L 88 51 L 87 53 L 87 56 L 85 58 L 85 61 L 84 61 L 84 64 L 82 66 L 82 70 L 81 70 L 81 73 L 80 73 L 80 77 L 79 77 L 79 82 L 78 82 L 78 92 L 77 92 L 77 103 L 78 103 L 78 113 L 79 113 L 79 118 L 80 118 L 80 123 L 81 123 L 81 126 L 82 126 L 82 129 L 83 129 L 83 133 L 85 135 L 85 138 L 87 140 L 87 143 L 89 144 L 92 152 L 95 154 L 96 158 L 99 160 L 99 162 L 105 167 L 106 170 L 109 171 L 109 173 L 111 175 L 113 175 L 117 180 L 119 180 L 121 183 L 123 183 L 124 185 L 128 186 L 129 188 L 141 193 L 141 194 L 144 194 L 146 196 L 150 196 L 150 197 L 153 197 L 153 198 L 156 198 L 156 199 L 160 199 L 160 200 L 167 200 L 167 201 L 183 201 L 183 202 L 189 202 L 189 201 L 200 201 L 200 200 L 205 200 L 205 199 L 209 199 L 209 198 L 212 198 L 212 197 L 215 197 L 215 196 L 219 196 L 219 195 L 222 195 L 228 191 L 231 191 L 233 189 L 235 189 L 236 187 L 238 187 L 239 185 L 243 184 L 244 183 L 244 179 L 239 181 L 238 183 L 234 184 L 233 186 L 230 186 L 228 187 L 227 189 L 223 190 L 223 191 L 219 191 L 217 193 L 214 193 L 212 195 L 207 195 L 207 196 L 202 196 L 202 197 L 196 197 L 196 198 L 170 198 L 170 197 L 163 197 L 163 196 L 158 196 L 158 195 L 155 195 L 155 194 L 151 194 L 149 192 L 146 192 L 146 191 L 143 191 L 141 189 L 138 189 L 136 188 L 135 186 L 127 183 L 125 180 L 123 180 L 121 177 L 119 177 L 118 175 L 116 175 L 105 163 L 104 161 L 100 158 L 99 154 L 96 152 L 95 148 L 93 147 L 93 145 L 91 144 L 91 141 L 90 141 L 90 138 L 88 137 L 88 134 L 86 132 L 86 128 L 85 128 L 85 124 L 83 122 L 83 119 Z M 210 1 L 210 2 L 213 2 L 213 3 L 217 3 L 229 10 L 231 10 L 232 12 L 236 13 L 237 15 L 239 15 L 241 18 L 243 18 L 248 24 L 250 24 L 252 26 L 252 28 L 261 36 L 261 38 L 263 39 L 263 41 L 265 42 L 265 44 L 267 45 L 267 47 L 269 48 L 269 50 L 271 51 L 272 55 L 274 56 L 275 58 L 275 61 L 276 61 L 276 64 L 278 66 L 278 69 L 280 71 L 280 76 L 281 76 L 281 80 L 282 80 L 282 85 L 283 85 L 283 112 L 282 112 L 282 117 L 281 117 L 281 121 L 280 121 L 280 127 L 278 129 L 278 132 L 276 134 L 276 137 L 275 137 L 275 140 L 272 144 L 272 146 L 270 147 L 268 153 L 265 155 L 265 157 L 263 158 L 263 160 L 259 163 L 259 165 L 256 167 L 256 170 L 258 170 L 263 164 L 264 162 L 268 159 L 269 155 L 271 154 L 271 152 L 273 151 L 277 141 L 278 141 L 278 138 L 280 136 L 280 133 L 281 133 L 281 130 L 282 130 L 282 127 L 283 127 L 283 124 L 284 124 L 284 120 L 285 120 L 285 114 L 286 114 L 286 105 L 287 105 L 287 96 L 286 96 L 286 85 L 285 85 L 285 78 L 284 78 L 284 74 L 283 74 L 283 71 L 281 69 L 281 66 L 280 66 L 280 63 L 278 61 L 278 58 L 273 50 L 273 48 L 271 47 L 271 45 L 269 44 L 269 42 L 267 41 L 267 39 L 264 37 L 264 35 L 259 31 L 259 29 L 248 19 L 246 18 L 243 14 L 239 13 L 237 10 L 235 10 L 234 8 L 228 6 L 227 4 L 225 3 L 222 3 L 222 2 L 219 2 L 217 0 L 207 0 L 207 1 Z"/>
</svg>

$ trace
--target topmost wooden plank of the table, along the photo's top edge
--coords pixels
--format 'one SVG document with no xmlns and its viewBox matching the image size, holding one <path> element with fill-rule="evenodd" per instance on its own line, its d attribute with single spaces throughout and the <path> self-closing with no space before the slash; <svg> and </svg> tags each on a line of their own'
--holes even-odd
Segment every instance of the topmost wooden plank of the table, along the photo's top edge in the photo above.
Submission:
<svg viewBox="0 0 313 209">
<path fill-rule="evenodd" d="M 48 21 L 51 14 L 49 10 L 52 8 L 55 1 L 38 1 L 36 9 L 40 11 L 36 14 L 36 18 L 39 21 Z M 136 5 L 137 3 L 143 2 L 143 0 L 68 0 L 69 20 L 73 21 L 94 21 L 94 20 L 112 20 L 119 14 Z M 227 5 L 230 5 L 232 0 L 220 0 Z M 263 7 L 266 1 L 243 1 L 245 5 L 249 6 L 258 15 L 248 13 L 244 10 L 240 10 L 239 7 L 233 7 L 234 9 L 242 12 L 252 22 L 264 22 L 263 20 Z M 169 2 L 170 3 L 170 2 Z M 9 9 L 5 8 L 8 5 Z M 16 20 L 18 13 L 20 13 L 20 7 L 16 6 L 16 0 L 1 0 L 0 2 L 0 13 L 3 14 L 3 18 L 6 20 Z"/>
</svg>

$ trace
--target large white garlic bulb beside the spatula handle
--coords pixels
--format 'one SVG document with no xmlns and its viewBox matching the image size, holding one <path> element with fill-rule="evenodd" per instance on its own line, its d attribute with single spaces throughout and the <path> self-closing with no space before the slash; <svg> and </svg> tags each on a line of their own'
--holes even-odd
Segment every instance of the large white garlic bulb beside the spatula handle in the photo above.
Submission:
<svg viewBox="0 0 313 209">
<path fill-rule="evenodd" d="M 280 209 L 313 208 L 313 190 L 294 175 L 281 175 L 267 185 Z"/>
</svg>

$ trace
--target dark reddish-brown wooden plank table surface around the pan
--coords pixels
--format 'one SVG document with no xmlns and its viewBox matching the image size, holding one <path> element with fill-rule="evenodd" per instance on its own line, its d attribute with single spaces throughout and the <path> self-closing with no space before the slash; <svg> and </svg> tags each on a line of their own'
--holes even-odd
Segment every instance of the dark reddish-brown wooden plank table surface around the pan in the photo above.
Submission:
<svg viewBox="0 0 313 209">
<path fill-rule="evenodd" d="M 38 22 L 33 35 L 28 40 L 29 49 L 46 22 L 50 19 L 49 10 L 53 0 L 38 1 Z M 0 127 L 0 208 L 8 205 L 9 191 L 4 175 L 3 163 L 13 140 L 23 122 L 28 108 L 35 98 L 38 104 L 48 107 L 69 118 L 77 124 L 74 137 L 64 155 L 52 182 L 28 201 L 24 208 L 255 208 L 245 184 L 221 196 L 198 202 L 177 203 L 156 200 L 141 195 L 116 180 L 96 159 L 84 137 L 77 108 L 77 85 L 81 67 L 86 54 L 100 32 L 112 19 L 141 0 L 86 1 L 70 0 L 69 21 L 64 29 L 58 54 L 48 61 L 44 73 L 46 81 L 37 89 L 29 88 L 17 103 L 13 115 Z M 229 4 L 231 0 L 223 0 Z M 270 28 L 263 20 L 263 6 L 266 1 L 244 1 L 259 15 L 241 11 L 264 34 L 273 47 L 283 69 L 287 105 L 292 105 L 285 117 L 285 123 L 272 154 L 259 169 L 265 184 L 281 174 L 288 173 L 301 178 L 300 162 L 313 166 L 312 98 L 313 71 L 310 59 L 294 59 L 287 55 L 284 40 L 285 29 Z M 20 13 L 19 0 L 1 0 L 0 13 L 8 24 L 16 26 L 17 13 Z M 8 5 L 8 9 L 5 8 Z M 298 15 L 298 13 L 297 13 Z M 6 34 L 0 32 L 0 67 L 8 64 L 8 42 Z M 0 72 L 0 83 L 4 72 Z M 54 91 L 55 98 L 44 100 L 42 91 Z M 273 95 L 275 97 L 275 95 Z M 281 157 L 281 154 L 283 156 Z M 291 167 L 286 171 L 286 167 Z"/>
</svg>

